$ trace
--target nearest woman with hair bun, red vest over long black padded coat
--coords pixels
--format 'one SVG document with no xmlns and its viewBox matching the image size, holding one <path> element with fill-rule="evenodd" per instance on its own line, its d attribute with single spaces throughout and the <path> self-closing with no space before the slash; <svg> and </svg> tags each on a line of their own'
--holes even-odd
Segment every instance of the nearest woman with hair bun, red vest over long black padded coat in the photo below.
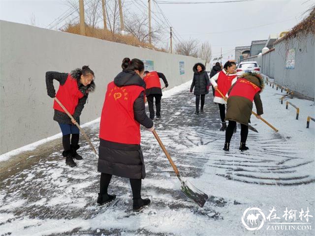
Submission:
<svg viewBox="0 0 315 236">
<path fill-rule="evenodd" d="M 154 123 L 145 112 L 143 62 L 126 58 L 123 64 L 126 69 L 107 86 L 101 114 L 97 166 L 101 176 L 97 203 L 103 205 L 116 198 L 107 192 L 112 175 L 126 177 L 132 189 L 133 210 L 139 211 L 151 203 L 150 199 L 141 198 L 141 179 L 146 172 L 140 147 L 140 124 L 153 131 Z"/>
</svg>

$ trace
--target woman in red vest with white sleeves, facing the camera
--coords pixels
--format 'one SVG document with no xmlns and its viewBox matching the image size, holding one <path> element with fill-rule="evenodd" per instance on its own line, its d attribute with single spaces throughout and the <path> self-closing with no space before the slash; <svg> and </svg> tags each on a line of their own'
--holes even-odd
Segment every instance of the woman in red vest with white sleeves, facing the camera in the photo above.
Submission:
<svg viewBox="0 0 315 236">
<path fill-rule="evenodd" d="M 236 64 L 233 61 L 227 61 L 223 70 L 213 76 L 210 81 L 212 86 L 217 90 L 219 89 L 223 95 L 227 93 L 227 91 L 231 88 L 231 86 L 236 82 L 237 75 L 235 73 Z M 220 117 L 222 126 L 220 131 L 226 130 L 226 122 L 225 122 L 225 104 L 226 101 L 222 98 L 218 91 L 215 91 L 215 98 L 213 99 L 215 103 L 219 104 Z"/>
</svg>

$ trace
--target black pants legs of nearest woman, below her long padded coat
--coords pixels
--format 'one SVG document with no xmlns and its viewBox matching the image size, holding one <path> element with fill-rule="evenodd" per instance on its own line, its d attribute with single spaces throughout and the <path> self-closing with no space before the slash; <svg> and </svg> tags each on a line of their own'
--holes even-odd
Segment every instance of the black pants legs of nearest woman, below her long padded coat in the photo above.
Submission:
<svg viewBox="0 0 315 236">
<path fill-rule="evenodd" d="M 107 194 L 108 185 L 112 175 L 101 173 L 100 174 L 100 181 L 99 181 L 99 193 L 100 194 Z M 129 178 L 132 196 L 133 199 L 140 199 L 141 198 L 141 178 Z"/>
</svg>

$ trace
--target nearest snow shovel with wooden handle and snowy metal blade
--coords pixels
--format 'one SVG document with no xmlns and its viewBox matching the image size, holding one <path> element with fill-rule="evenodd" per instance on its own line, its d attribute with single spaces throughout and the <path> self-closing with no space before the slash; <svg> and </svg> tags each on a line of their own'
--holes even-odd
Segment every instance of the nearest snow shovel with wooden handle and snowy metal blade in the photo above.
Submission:
<svg viewBox="0 0 315 236">
<path fill-rule="evenodd" d="M 165 149 L 162 141 L 159 139 L 158 134 L 156 130 L 153 130 L 152 133 L 154 134 L 154 137 L 156 137 L 159 146 L 163 149 L 168 161 L 171 163 L 176 176 L 179 178 L 179 180 L 182 183 L 181 190 L 182 192 L 189 197 L 191 200 L 193 200 L 196 204 L 198 204 L 200 207 L 203 207 L 208 200 L 208 195 L 197 189 L 195 186 L 192 185 L 192 183 L 189 182 L 189 180 L 184 180 L 181 174 L 179 173 L 176 165 L 174 164 L 170 154 Z"/>
</svg>

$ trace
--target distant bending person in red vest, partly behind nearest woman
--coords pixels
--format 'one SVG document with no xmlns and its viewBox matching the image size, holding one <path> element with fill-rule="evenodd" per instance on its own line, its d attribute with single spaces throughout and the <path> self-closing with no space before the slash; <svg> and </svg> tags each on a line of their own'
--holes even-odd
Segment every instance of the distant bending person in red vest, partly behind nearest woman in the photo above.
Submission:
<svg viewBox="0 0 315 236">
<path fill-rule="evenodd" d="M 146 83 L 146 96 L 148 99 L 149 111 L 150 111 L 150 119 L 154 119 L 154 104 L 153 100 L 156 99 L 156 108 L 157 108 L 157 119 L 161 118 L 161 97 L 162 97 L 162 89 L 161 83 L 159 81 L 161 78 L 164 82 L 165 88 L 168 87 L 168 83 L 166 77 L 163 73 L 159 73 L 157 71 L 145 71 L 144 72 L 144 82 Z"/>
</svg>

